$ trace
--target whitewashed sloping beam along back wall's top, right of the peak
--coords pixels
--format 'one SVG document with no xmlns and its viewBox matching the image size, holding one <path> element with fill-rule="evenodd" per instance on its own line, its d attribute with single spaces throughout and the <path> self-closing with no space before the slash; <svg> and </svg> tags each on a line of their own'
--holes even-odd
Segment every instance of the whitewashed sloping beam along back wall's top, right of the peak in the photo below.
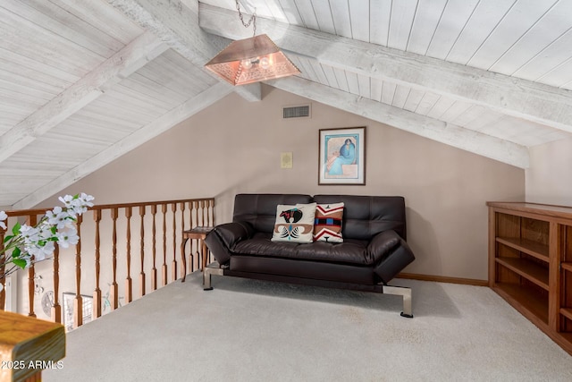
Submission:
<svg viewBox="0 0 572 382">
<path fill-rule="evenodd" d="M 425 115 L 416 115 L 395 106 L 362 98 L 343 90 L 333 89 L 299 77 L 289 77 L 267 81 L 266 83 L 274 88 L 288 91 L 300 97 L 309 98 L 349 113 L 361 115 L 373 121 L 385 123 L 400 130 L 412 132 L 430 140 L 436 140 L 458 149 L 489 157 L 511 166 L 520 168 L 529 166 L 528 149 L 508 140 L 501 140 L 482 132 L 468 130 Z"/>
</svg>

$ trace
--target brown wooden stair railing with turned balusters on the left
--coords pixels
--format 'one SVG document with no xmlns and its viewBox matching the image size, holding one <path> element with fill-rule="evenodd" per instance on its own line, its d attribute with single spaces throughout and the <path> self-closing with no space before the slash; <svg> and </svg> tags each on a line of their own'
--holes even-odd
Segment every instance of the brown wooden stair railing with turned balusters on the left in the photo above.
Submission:
<svg viewBox="0 0 572 382">
<path fill-rule="evenodd" d="M 131 230 L 131 219 L 135 218 L 132 216 L 134 210 L 136 214 L 139 214 L 139 230 Z M 28 209 L 5 212 L 9 216 L 7 223 L 10 230 L 17 219 L 20 221 L 25 219 L 27 224 L 34 225 L 38 222 L 38 217 L 43 216 L 46 210 Z M 161 223 L 157 222 L 157 219 Z M 63 315 L 66 312 L 62 309 L 59 293 L 62 290 L 63 280 L 73 280 L 74 328 L 84 324 L 83 300 L 86 295 L 93 298 L 92 319 L 95 319 L 104 314 L 105 298 L 105 303 L 111 310 L 119 308 L 122 298 L 120 293 L 124 296 L 123 303 L 132 301 L 134 283 L 139 284 L 138 298 L 144 296 L 147 290 L 155 291 L 159 287 L 156 264 L 158 256 L 163 259 L 163 263 L 160 264 L 162 286 L 177 280 L 192 272 L 195 264 L 198 267 L 198 256 L 195 254 L 201 250 L 199 243 L 189 241 L 187 244 L 190 247 L 189 261 L 187 261 L 189 266 L 187 269 L 179 269 L 178 272 L 178 259 L 181 259 L 181 250 L 183 250 L 181 248 L 182 231 L 199 225 L 214 225 L 214 198 L 109 204 L 89 208 L 88 212 L 78 218 L 77 230 L 80 242 L 75 245 L 75 248 L 63 249 L 56 245 L 52 259 L 46 259 L 28 268 L 29 311 L 27 314 L 30 317 L 37 316 L 34 310 L 35 277 L 37 267 L 39 268 L 41 264 L 45 269 L 44 264 L 47 261 L 53 263 L 53 269 L 49 272 L 53 278 L 50 284 L 54 291 L 51 319 L 58 323 L 65 323 Z M 135 233 L 135 231 L 139 232 Z M 0 246 L 4 245 L 4 234 L 5 230 L 0 228 Z M 157 240 L 157 235 L 160 235 L 162 239 Z M 93 239 L 91 239 L 92 236 Z M 157 245 L 161 248 L 158 249 Z M 171 248 L 172 253 L 170 253 Z M 136 250 L 139 250 L 139 277 L 133 280 L 131 278 L 131 255 L 137 253 Z M 168 258 L 172 260 L 167 261 Z M 2 274 L 4 271 L 0 269 L 0 275 Z M 125 280 L 122 291 L 118 284 L 120 274 L 124 274 Z M 93 275 L 93 278 L 88 275 Z M 147 278 L 147 275 L 150 277 Z M 49 276 L 44 276 L 44 281 L 46 280 L 49 280 Z M 0 280 L 0 283 L 4 284 L 4 280 Z M 105 284 L 109 285 L 108 297 L 104 297 L 102 291 L 102 285 Z M 71 285 L 68 285 L 68 288 L 71 288 Z M 0 310 L 4 310 L 4 303 L 5 289 L 0 292 Z"/>
</svg>

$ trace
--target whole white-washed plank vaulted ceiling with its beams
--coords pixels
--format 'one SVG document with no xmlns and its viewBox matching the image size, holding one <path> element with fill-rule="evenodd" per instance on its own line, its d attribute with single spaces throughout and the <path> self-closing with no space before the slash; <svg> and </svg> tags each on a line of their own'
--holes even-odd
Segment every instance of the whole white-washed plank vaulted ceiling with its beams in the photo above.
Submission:
<svg viewBox="0 0 572 382">
<path fill-rule="evenodd" d="M 278 89 L 512 166 L 572 137 L 572 0 L 241 0 Z M 236 91 L 234 0 L 0 2 L 0 206 L 29 208 Z"/>
</svg>

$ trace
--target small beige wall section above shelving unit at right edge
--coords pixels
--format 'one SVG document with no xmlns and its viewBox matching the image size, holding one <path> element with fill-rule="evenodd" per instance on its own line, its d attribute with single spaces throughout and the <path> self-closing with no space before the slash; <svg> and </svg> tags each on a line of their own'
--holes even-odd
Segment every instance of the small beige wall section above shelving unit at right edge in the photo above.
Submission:
<svg viewBox="0 0 572 382">
<path fill-rule="evenodd" d="M 526 201 L 572 206 L 572 139 L 529 149 Z"/>
</svg>

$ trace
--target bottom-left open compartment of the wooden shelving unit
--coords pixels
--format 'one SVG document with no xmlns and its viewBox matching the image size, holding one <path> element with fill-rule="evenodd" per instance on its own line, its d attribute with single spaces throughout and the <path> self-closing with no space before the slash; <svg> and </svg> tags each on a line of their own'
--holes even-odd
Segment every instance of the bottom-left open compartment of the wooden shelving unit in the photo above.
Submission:
<svg viewBox="0 0 572 382">
<path fill-rule="evenodd" d="M 548 299 L 534 290 L 533 287 L 497 283 L 494 289 L 528 319 L 534 321 L 535 318 L 539 318 L 543 324 L 548 325 Z"/>
</svg>

